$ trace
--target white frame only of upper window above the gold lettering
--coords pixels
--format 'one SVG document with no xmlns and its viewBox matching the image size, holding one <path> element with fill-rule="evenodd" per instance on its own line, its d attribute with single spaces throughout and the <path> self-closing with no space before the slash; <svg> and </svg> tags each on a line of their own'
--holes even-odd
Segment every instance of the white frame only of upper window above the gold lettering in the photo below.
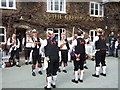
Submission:
<svg viewBox="0 0 120 90">
<path fill-rule="evenodd" d="M 50 10 L 50 7 L 51 7 L 51 4 L 49 4 L 49 0 L 47 0 L 47 12 L 51 12 L 51 13 L 66 13 L 66 0 L 63 0 L 64 2 L 64 7 L 62 9 L 62 11 L 60 11 L 60 1 L 61 0 L 58 0 L 59 2 L 59 9 L 58 10 L 55 10 L 55 0 L 52 0 L 53 1 L 53 10 Z"/>
</svg>

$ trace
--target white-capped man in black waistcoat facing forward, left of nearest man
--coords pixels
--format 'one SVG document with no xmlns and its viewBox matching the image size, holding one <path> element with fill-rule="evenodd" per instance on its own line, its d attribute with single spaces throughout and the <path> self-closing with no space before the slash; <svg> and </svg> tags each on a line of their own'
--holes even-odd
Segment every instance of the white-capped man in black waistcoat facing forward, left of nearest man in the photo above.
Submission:
<svg viewBox="0 0 120 90">
<path fill-rule="evenodd" d="M 42 75 L 42 71 L 41 71 L 41 52 L 40 52 L 40 48 L 41 48 L 41 43 L 42 43 L 42 39 L 38 38 L 38 32 L 36 31 L 36 29 L 32 30 L 32 48 L 33 48 L 33 52 L 32 52 L 32 59 L 33 59 L 33 65 L 32 65 L 32 75 L 36 76 L 35 73 L 35 69 L 36 69 L 36 64 L 38 62 L 38 73 L 40 75 Z"/>
</svg>

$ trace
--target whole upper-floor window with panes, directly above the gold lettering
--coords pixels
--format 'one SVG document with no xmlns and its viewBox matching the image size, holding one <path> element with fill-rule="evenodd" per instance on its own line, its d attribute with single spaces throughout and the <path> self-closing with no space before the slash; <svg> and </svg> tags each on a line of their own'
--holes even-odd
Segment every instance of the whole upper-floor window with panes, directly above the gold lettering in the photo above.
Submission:
<svg viewBox="0 0 120 90">
<path fill-rule="evenodd" d="M 66 1 L 47 0 L 47 12 L 66 13 Z"/>
</svg>

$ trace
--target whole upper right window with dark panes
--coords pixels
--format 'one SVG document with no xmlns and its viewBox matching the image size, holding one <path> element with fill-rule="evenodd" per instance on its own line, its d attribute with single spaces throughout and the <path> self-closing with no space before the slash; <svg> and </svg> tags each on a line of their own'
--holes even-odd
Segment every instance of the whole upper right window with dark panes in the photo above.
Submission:
<svg viewBox="0 0 120 90">
<path fill-rule="evenodd" d="M 103 17 L 103 5 L 97 2 L 90 2 L 90 16 Z"/>
</svg>

